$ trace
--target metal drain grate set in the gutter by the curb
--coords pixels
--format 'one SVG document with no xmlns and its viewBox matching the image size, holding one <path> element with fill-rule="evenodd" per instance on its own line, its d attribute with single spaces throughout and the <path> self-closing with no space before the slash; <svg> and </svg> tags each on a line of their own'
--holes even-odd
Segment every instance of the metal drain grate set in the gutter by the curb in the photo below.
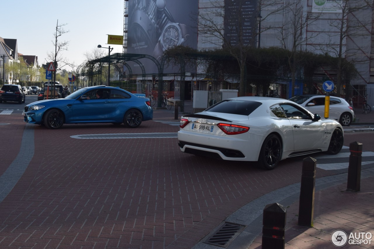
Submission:
<svg viewBox="0 0 374 249">
<path fill-rule="evenodd" d="M 243 225 L 225 222 L 212 236 L 206 239 L 204 243 L 226 247 L 243 228 Z"/>
</svg>

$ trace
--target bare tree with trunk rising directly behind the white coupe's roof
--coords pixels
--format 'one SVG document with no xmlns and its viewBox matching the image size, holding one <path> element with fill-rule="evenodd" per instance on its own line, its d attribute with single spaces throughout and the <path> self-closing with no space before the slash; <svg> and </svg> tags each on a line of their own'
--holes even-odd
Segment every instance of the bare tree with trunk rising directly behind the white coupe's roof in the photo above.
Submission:
<svg viewBox="0 0 374 249">
<path fill-rule="evenodd" d="M 256 6 L 252 3 L 255 1 L 208 1 L 204 2 L 205 6 L 200 3 L 198 14 L 198 32 L 202 43 L 210 43 L 208 49 L 224 47 L 236 59 L 240 68 L 239 96 L 245 96 L 245 63 L 249 51 L 256 46 L 260 32 L 271 28 L 263 27 L 260 30 L 259 21 L 266 21 L 284 8 L 284 4 L 281 4 L 283 0 L 259 0 Z M 261 7 L 270 11 L 261 16 Z"/>
</svg>

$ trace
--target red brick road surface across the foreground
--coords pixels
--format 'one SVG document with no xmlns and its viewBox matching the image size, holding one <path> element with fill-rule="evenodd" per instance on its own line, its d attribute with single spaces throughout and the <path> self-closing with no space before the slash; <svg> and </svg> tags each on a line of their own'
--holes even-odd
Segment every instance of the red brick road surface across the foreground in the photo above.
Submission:
<svg viewBox="0 0 374 249">
<path fill-rule="evenodd" d="M 172 120 L 174 113 L 156 110 L 155 119 Z M 7 122 L 12 126 L 4 125 L 0 132 L 12 130 L 13 136 L 6 136 L 0 149 L 13 154 L 1 161 L 2 174 L 14 161 L 25 128 L 18 116 L 7 116 Z M 300 181 L 297 159 L 269 172 L 243 162 L 227 167 L 224 161 L 181 155 L 175 138 L 70 137 L 177 130 L 153 121 L 137 129 L 99 124 L 52 131 L 33 126 L 34 155 L 0 203 L 0 248 L 193 248 L 241 207 Z M 318 177 L 332 174 L 320 170 Z M 333 197 L 337 191 L 331 191 Z M 288 215 L 296 205 L 290 205 Z M 291 222 L 297 243 L 303 234 Z"/>
</svg>

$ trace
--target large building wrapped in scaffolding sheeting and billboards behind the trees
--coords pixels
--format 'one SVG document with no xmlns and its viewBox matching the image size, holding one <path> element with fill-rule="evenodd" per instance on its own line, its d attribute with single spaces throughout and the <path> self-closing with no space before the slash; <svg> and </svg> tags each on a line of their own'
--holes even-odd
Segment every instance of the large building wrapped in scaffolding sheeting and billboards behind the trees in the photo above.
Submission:
<svg viewBox="0 0 374 249">
<path fill-rule="evenodd" d="M 212 20 L 221 25 L 223 33 L 228 34 L 230 23 L 225 19 L 228 4 L 225 0 L 191 0 L 185 3 L 172 0 L 124 0 L 123 54 L 129 56 L 124 59 L 123 55 L 119 55 L 101 62 L 122 60 L 123 65 L 117 66 L 120 71 L 118 75 L 136 79 L 138 93 L 152 92 L 155 85 L 160 85 L 157 84 L 159 69 L 155 62 L 142 58 L 135 59 L 135 62 L 129 61 L 131 55 L 149 55 L 160 62 L 163 51 L 175 45 L 197 50 L 222 47 L 223 40 L 203 34 L 197 19 L 201 13 L 223 11 L 222 16 L 212 16 Z M 314 72 L 315 80 L 306 84 L 303 82 L 303 71 L 299 70 L 292 84 L 291 77 L 276 80 L 267 91 L 259 92 L 251 88 L 252 92 L 248 95 L 273 94 L 288 98 L 291 97 L 291 88 L 295 94 L 324 94 L 321 85 L 331 80 L 338 83 L 336 95 L 356 96 L 355 101 L 360 103 L 362 97 L 369 94 L 368 103 L 374 105 L 373 0 L 236 0 L 230 1 L 230 4 L 233 4 L 231 7 L 241 7 L 241 14 L 245 17 L 243 30 L 250 46 L 327 53 L 354 63 L 358 71 L 357 77 L 346 82 L 336 68 L 320 67 Z M 195 19 L 191 18 L 193 16 Z M 167 40 L 163 38 L 171 34 L 177 37 L 166 43 Z M 163 88 L 172 94 L 169 97 L 176 99 L 190 99 L 194 90 L 218 91 L 227 85 L 237 87 L 235 84 L 238 83 L 238 78 L 232 77 L 225 81 L 233 84 L 221 82 L 212 85 L 211 78 L 204 76 L 204 70 L 198 67 L 184 69 L 183 75 L 180 68 L 166 67 L 162 70 Z M 248 74 L 248 78 L 251 78 L 251 72 Z M 183 97 L 180 96 L 181 85 L 186 88 Z"/>
</svg>

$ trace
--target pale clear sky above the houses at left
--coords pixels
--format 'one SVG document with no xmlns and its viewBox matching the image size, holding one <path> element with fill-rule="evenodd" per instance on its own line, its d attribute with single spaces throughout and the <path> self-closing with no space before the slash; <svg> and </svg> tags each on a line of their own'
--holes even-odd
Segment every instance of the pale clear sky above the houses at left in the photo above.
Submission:
<svg viewBox="0 0 374 249">
<path fill-rule="evenodd" d="M 1 9 L 0 37 L 17 39 L 18 53 L 38 56 L 40 66 L 49 63 L 47 53 L 55 51 L 52 41 L 57 21 L 69 31 L 58 38 L 69 41 L 60 54 L 69 63 L 80 65 L 84 54 L 99 44 L 113 47 L 111 53 L 122 53 L 121 45 L 107 41 L 108 34 L 123 35 L 123 0 L 4 0 Z M 69 66 L 61 69 L 71 70 Z"/>
</svg>

